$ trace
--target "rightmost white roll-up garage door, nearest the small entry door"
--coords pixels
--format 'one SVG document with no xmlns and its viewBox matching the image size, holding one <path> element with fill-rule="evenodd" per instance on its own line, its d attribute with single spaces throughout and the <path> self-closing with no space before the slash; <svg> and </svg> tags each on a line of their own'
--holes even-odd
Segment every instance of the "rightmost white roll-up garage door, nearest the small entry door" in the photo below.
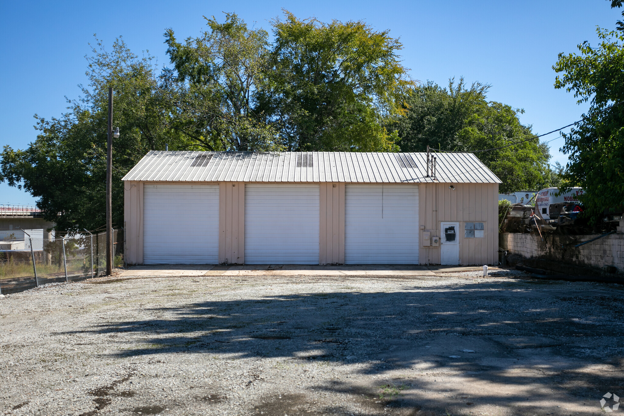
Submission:
<svg viewBox="0 0 624 416">
<path fill-rule="evenodd" d="M 418 264 L 418 185 L 346 185 L 344 263 Z"/>
</svg>

